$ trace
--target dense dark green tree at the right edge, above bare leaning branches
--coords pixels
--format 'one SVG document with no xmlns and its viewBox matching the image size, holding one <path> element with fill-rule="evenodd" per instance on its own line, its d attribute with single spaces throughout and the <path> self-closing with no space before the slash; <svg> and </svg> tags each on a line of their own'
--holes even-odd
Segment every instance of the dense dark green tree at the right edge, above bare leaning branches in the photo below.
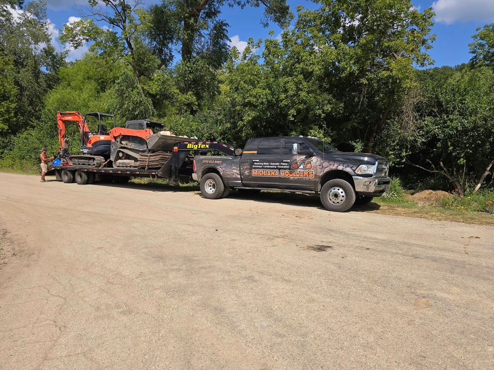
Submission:
<svg viewBox="0 0 494 370">
<path fill-rule="evenodd" d="M 408 162 L 439 174 L 460 192 L 477 191 L 494 166 L 494 73 L 463 66 L 420 73 Z"/>
</svg>

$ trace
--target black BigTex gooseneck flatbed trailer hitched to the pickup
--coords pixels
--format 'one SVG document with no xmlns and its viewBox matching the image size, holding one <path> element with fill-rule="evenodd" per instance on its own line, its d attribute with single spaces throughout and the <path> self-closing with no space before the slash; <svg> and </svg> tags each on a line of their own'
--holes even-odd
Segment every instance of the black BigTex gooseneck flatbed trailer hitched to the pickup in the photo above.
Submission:
<svg viewBox="0 0 494 370">
<path fill-rule="evenodd" d="M 165 164 L 160 168 L 123 168 L 112 167 L 112 161 L 105 162 L 101 167 L 75 166 L 69 163 L 53 163 L 49 174 L 54 174 L 57 180 L 64 183 L 76 182 L 79 185 L 92 184 L 95 180 L 111 180 L 124 184 L 132 177 L 169 179 L 172 183 L 191 182 L 193 156 L 191 154 L 218 152 L 227 156 L 242 154 L 241 148 L 217 141 L 182 141 L 173 146 L 173 152 Z"/>
</svg>

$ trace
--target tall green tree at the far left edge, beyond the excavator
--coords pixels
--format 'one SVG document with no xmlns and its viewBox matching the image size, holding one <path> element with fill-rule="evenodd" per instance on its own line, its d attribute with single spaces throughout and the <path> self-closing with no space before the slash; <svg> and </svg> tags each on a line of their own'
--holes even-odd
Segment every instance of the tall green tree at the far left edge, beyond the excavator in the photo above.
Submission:
<svg viewBox="0 0 494 370">
<path fill-rule="evenodd" d="M 31 1 L 22 10 L 16 4 L 22 1 L 0 3 L 2 134 L 15 134 L 39 119 L 43 97 L 58 82 L 58 69 L 65 63 L 65 55 L 50 44 L 46 2 Z"/>
</svg>

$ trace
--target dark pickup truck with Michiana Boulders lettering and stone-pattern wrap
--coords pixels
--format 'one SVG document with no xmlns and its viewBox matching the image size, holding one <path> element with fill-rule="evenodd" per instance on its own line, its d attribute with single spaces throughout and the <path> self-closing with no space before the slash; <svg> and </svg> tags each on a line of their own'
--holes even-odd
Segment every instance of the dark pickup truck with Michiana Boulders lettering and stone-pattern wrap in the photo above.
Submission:
<svg viewBox="0 0 494 370">
<path fill-rule="evenodd" d="M 192 177 L 208 199 L 230 189 L 304 192 L 320 194 L 324 207 L 344 212 L 389 188 L 388 167 L 384 157 L 341 152 L 317 138 L 273 137 L 250 139 L 241 155 L 196 155 Z"/>
</svg>

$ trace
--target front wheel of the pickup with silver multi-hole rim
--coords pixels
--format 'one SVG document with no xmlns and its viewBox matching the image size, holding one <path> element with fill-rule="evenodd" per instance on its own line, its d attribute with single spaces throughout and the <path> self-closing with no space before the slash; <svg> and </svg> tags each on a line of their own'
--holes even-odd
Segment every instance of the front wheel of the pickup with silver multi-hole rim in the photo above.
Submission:
<svg viewBox="0 0 494 370">
<path fill-rule="evenodd" d="M 342 179 L 329 180 L 321 188 L 321 203 L 329 211 L 345 212 L 355 203 L 355 190 Z"/>
</svg>

